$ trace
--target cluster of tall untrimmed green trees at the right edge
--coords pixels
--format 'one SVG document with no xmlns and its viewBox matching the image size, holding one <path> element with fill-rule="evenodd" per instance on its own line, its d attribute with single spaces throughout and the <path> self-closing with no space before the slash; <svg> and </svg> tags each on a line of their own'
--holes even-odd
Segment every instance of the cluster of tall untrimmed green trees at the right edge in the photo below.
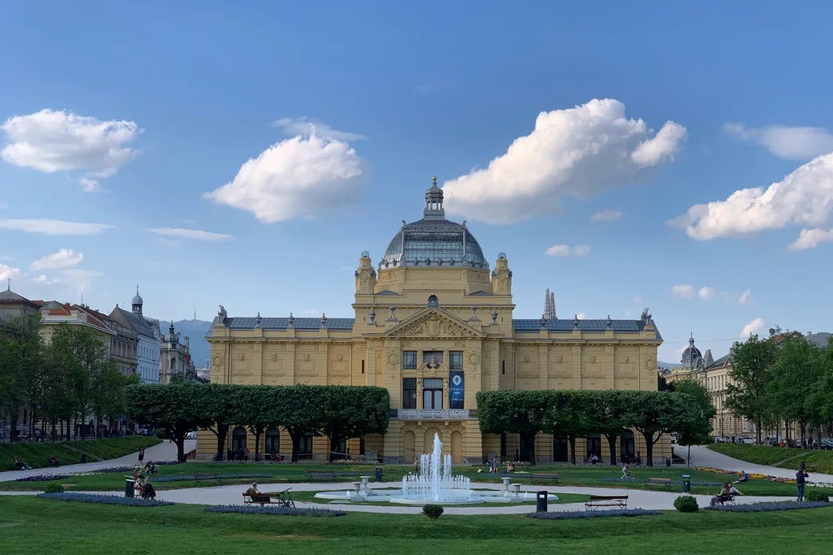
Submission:
<svg viewBox="0 0 833 555">
<path fill-rule="evenodd" d="M 801 334 L 772 331 L 734 347 L 726 407 L 755 424 L 759 444 L 766 428 L 801 444 L 813 428 L 821 444 L 822 429 L 833 436 L 833 339 L 820 347 Z M 799 438 L 791 437 L 793 428 Z"/>
</svg>

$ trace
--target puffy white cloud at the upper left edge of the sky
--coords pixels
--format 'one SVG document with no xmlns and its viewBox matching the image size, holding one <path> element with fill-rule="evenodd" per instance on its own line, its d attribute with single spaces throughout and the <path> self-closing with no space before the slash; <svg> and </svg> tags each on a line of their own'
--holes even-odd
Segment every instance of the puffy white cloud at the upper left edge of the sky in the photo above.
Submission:
<svg viewBox="0 0 833 555">
<path fill-rule="evenodd" d="M 12 116 L 0 129 L 8 143 L 0 151 L 3 160 L 46 173 L 85 171 L 85 191 L 97 190 L 92 178 L 112 176 L 136 156 L 127 145 L 142 131 L 133 121 L 101 121 L 49 108 Z"/>
</svg>

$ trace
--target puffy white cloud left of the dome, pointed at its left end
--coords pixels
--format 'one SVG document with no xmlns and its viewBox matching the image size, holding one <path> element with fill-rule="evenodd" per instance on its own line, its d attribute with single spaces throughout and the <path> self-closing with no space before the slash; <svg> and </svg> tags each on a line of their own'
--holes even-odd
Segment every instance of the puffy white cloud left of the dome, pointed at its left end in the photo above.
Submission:
<svg viewBox="0 0 833 555">
<path fill-rule="evenodd" d="M 355 201 L 365 174 L 347 142 L 296 136 L 249 159 L 230 183 L 202 196 L 273 223 Z"/>
</svg>

